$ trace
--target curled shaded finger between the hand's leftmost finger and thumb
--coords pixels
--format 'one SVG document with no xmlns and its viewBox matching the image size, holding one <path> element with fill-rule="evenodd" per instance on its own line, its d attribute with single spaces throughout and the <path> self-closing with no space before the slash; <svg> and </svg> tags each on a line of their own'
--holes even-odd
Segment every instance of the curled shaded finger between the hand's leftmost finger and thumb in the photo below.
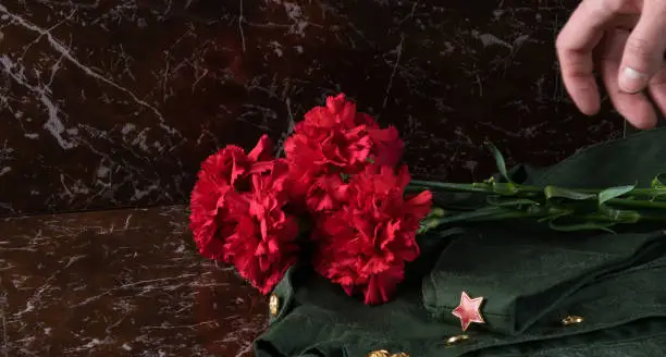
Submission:
<svg viewBox="0 0 666 357">
<path fill-rule="evenodd" d="M 601 58 L 601 74 L 615 109 L 638 128 L 651 128 L 656 124 L 656 113 L 644 94 L 628 94 L 620 89 L 617 71 L 629 32 L 613 30 L 606 34 Z"/>
</svg>

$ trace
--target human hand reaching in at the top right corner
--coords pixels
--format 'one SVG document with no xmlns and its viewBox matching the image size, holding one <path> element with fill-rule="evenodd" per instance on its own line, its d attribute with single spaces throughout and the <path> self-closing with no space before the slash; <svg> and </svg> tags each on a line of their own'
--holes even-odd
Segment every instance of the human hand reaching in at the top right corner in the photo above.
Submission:
<svg viewBox="0 0 666 357">
<path fill-rule="evenodd" d="M 666 113 L 666 0 L 583 0 L 556 41 L 565 87 L 581 112 L 601 107 L 593 72 L 615 109 L 651 128 Z"/>
</svg>

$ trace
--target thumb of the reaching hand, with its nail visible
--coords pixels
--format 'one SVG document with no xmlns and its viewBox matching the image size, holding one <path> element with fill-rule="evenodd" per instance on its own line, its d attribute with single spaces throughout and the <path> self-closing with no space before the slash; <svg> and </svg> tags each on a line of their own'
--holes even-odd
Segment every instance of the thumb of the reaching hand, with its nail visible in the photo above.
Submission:
<svg viewBox="0 0 666 357">
<path fill-rule="evenodd" d="M 646 1 L 625 45 L 618 77 L 620 89 L 629 94 L 645 89 L 650 78 L 662 67 L 665 50 L 666 4 L 661 0 Z"/>
</svg>

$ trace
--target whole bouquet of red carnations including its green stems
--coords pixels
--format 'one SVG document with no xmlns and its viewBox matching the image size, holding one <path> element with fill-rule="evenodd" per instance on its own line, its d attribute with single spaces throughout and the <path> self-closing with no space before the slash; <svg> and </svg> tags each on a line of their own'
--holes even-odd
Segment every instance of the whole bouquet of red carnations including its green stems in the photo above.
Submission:
<svg viewBox="0 0 666 357">
<path fill-rule="evenodd" d="M 370 305 L 392 298 L 405 263 L 419 256 L 417 233 L 441 224 L 528 218 L 571 232 L 666 221 L 659 199 L 666 175 L 651 188 L 527 186 L 511 181 L 491 149 L 501 180 L 411 180 L 398 163 L 397 130 L 381 128 L 341 94 L 306 113 L 284 158 L 271 155 L 264 135 L 249 153 L 230 145 L 206 159 L 192 194 L 190 229 L 202 256 L 235 266 L 263 294 L 299 259 L 310 259 L 319 274 Z M 430 190 L 482 194 L 486 204 L 431 210 Z M 307 258 L 305 244 L 314 247 Z"/>
</svg>

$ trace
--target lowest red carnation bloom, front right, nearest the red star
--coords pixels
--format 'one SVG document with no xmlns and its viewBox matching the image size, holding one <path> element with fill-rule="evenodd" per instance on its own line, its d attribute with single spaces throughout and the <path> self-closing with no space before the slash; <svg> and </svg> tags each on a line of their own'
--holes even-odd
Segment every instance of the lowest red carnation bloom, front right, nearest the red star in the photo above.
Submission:
<svg viewBox="0 0 666 357">
<path fill-rule="evenodd" d="M 409 180 L 406 167 L 397 173 L 367 167 L 350 180 L 348 200 L 318 222 L 314 269 L 348 295 L 362 293 L 366 304 L 388 301 L 404 279 L 405 262 L 419 256 L 416 233 L 432 195 L 405 198 Z"/>
</svg>

